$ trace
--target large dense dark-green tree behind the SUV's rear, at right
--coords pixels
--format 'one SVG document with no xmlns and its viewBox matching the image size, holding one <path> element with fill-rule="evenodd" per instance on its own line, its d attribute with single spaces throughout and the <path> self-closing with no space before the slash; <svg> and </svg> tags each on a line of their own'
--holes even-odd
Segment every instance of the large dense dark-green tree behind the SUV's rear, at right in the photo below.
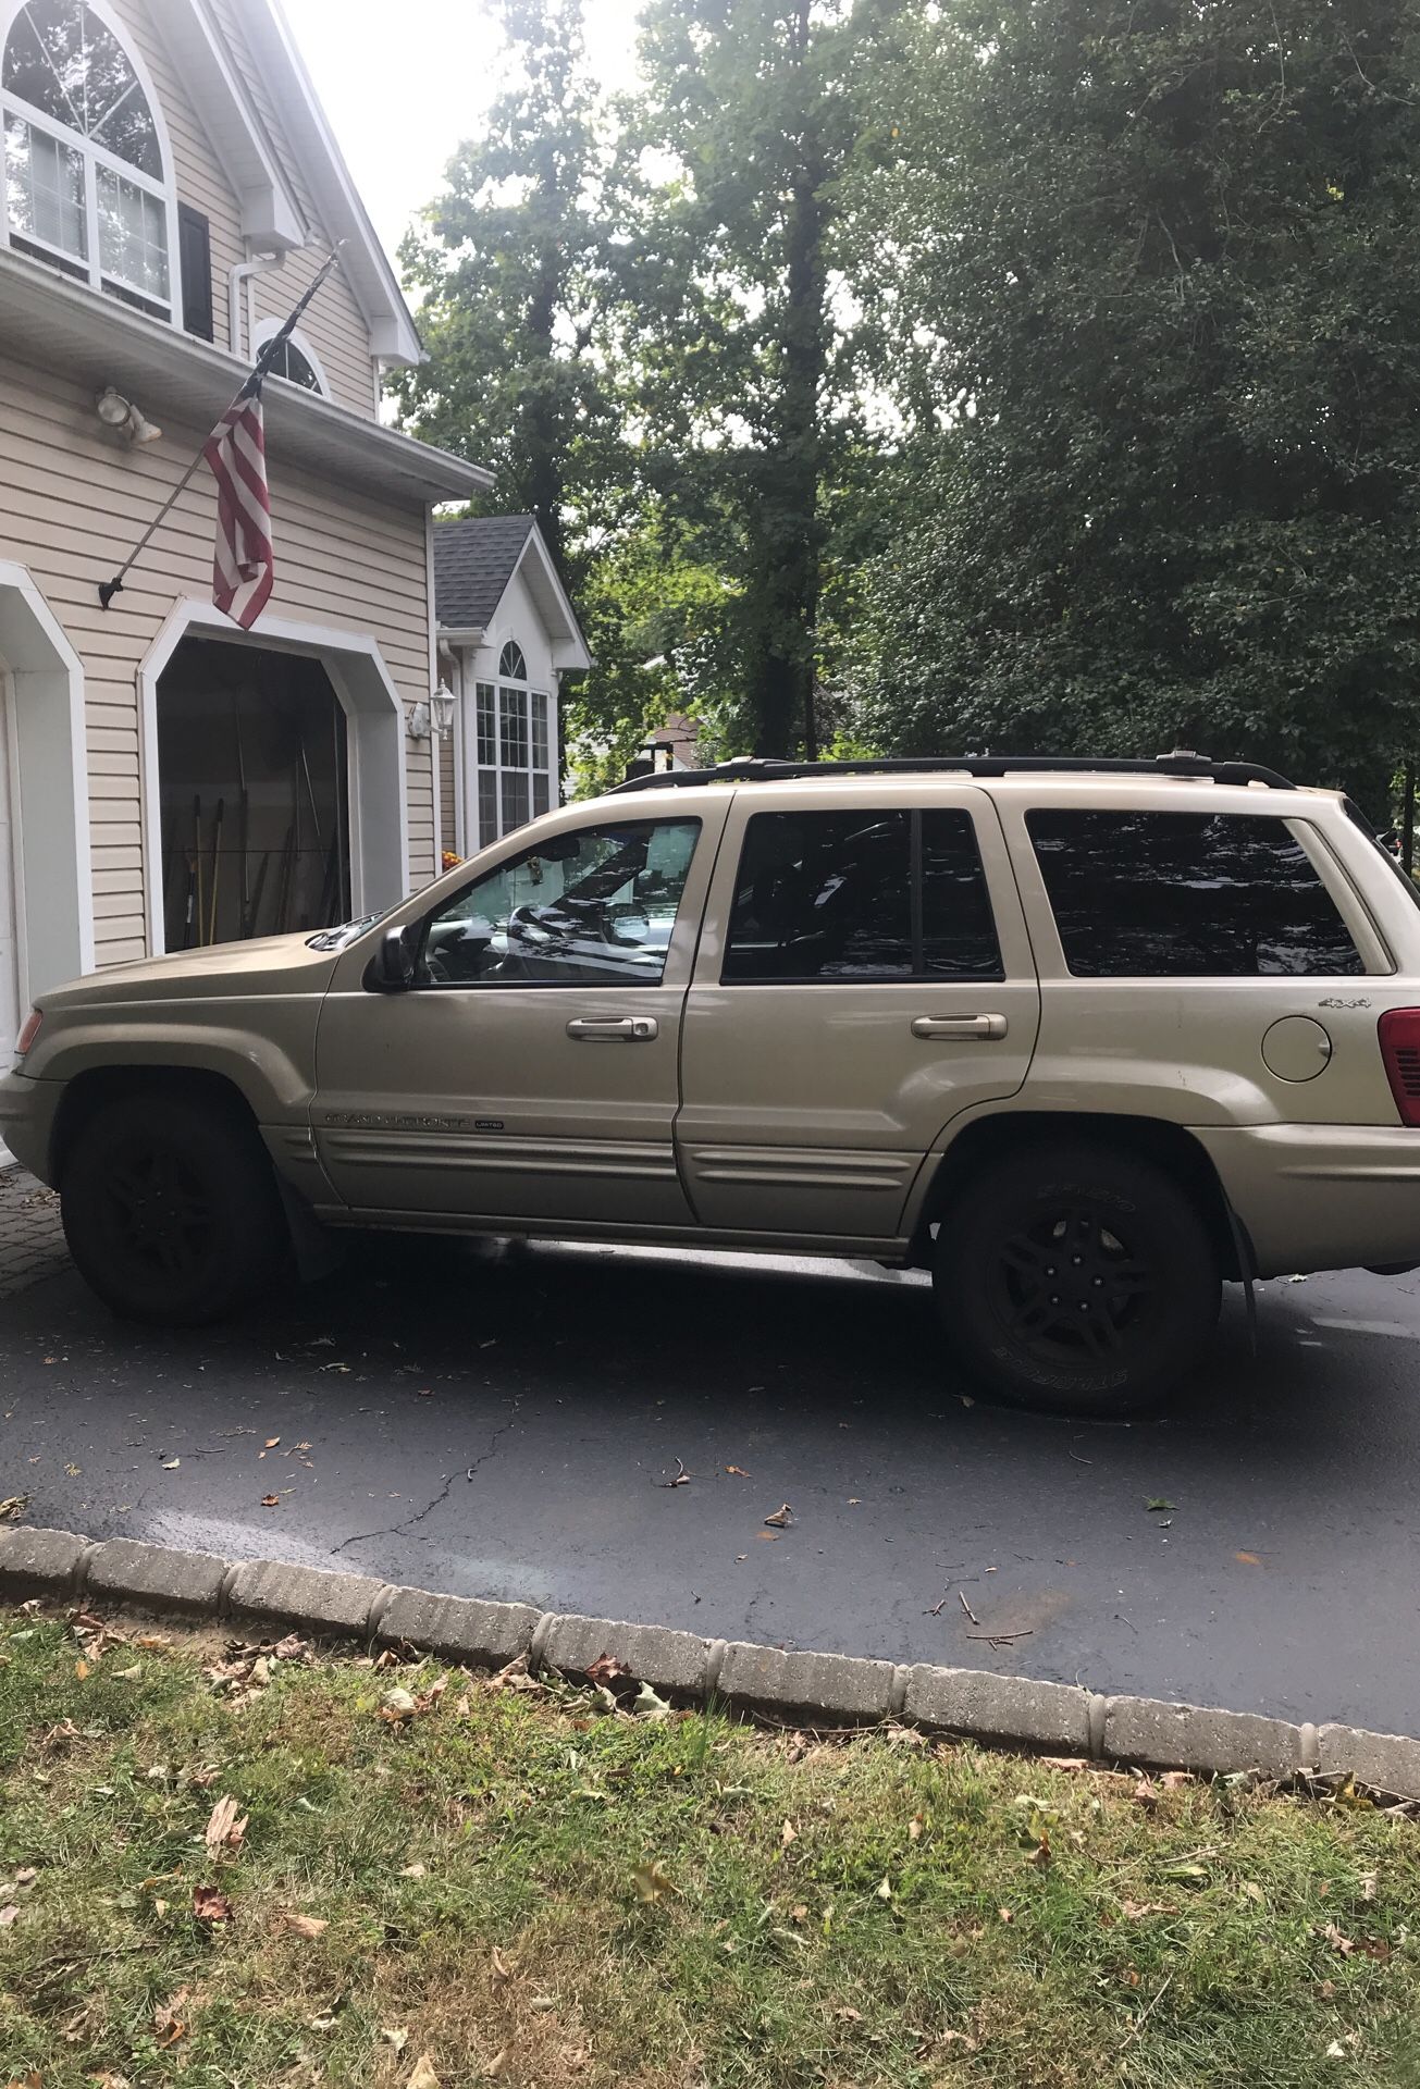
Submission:
<svg viewBox="0 0 1420 2089">
<path fill-rule="evenodd" d="M 898 21 L 865 290 L 904 418 L 865 729 L 1176 742 L 1380 811 L 1420 733 L 1420 17 Z"/>
</svg>

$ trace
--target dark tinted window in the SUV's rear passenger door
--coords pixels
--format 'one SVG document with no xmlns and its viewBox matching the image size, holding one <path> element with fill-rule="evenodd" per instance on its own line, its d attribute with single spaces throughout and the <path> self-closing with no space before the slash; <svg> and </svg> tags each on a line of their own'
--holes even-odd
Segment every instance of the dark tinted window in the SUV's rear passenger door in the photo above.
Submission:
<svg viewBox="0 0 1420 2089">
<path fill-rule="evenodd" d="M 735 875 L 727 984 L 1000 980 L 967 813 L 756 813 Z"/>
</svg>

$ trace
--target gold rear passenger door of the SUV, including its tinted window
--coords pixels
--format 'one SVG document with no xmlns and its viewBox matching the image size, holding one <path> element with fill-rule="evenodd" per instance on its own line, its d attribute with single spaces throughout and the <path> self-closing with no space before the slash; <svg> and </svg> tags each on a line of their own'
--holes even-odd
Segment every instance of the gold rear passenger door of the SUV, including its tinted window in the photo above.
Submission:
<svg viewBox="0 0 1420 2089">
<path fill-rule="evenodd" d="M 990 796 L 739 790 L 685 1009 L 695 1216 L 888 1241 L 942 1128 L 1025 1080 L 1040 992 Z"/>
</svg>

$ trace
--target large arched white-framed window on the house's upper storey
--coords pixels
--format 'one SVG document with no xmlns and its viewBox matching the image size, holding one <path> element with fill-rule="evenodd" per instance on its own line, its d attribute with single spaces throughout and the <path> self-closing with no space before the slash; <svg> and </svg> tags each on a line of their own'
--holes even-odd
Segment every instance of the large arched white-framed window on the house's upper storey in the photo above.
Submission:
<svg viewBox="0 0 1420 2089">
<path fill-rule="evenodd" d="M 109 13 L 25 0 L 0 61 L 13 247 L 173 318 L 171 194 L 157 111 Z"/>
</svg>

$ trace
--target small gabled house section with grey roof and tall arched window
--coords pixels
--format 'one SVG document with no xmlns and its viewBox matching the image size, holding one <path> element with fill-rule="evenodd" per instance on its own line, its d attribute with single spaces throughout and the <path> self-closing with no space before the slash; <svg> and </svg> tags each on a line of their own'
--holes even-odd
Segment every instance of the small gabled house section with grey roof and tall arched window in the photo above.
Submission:
<svg viewBox="0 0 1420 2089">
<path fill-rule="evenodd" d="M 441 827 L 459 856 L 558 804 L 560 681 L 591 654 L 532 516 L 434 524 L 443 679 Z"/>
</svg>

